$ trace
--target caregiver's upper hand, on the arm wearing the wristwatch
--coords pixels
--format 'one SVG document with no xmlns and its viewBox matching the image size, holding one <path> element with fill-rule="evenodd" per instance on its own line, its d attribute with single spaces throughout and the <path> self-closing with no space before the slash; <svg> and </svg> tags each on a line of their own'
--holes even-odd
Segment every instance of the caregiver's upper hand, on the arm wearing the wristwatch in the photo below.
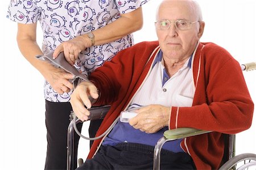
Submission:
<svg viewBox="0 0 256 170">
<path fill-rule="evenodd" d="M 61 43 L 53 52 L 53 58 L 57 58 L 60 52 L 64 52 L 65 59 L 69 64 L 74 65 L 81 51 L 90 47 L 91 41 L 82 35 Z"/>
</svg>

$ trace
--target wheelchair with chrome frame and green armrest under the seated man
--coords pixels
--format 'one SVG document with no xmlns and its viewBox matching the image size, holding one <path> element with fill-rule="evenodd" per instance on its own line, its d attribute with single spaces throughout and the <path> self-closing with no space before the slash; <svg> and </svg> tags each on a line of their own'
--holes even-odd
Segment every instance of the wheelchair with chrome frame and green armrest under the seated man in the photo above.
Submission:
<svg viewBox="0 0 256 170">
<path fill-rule="evenodd" d="M 241 65 L 242 71 L 251 71 L 256 69 L 256 63 L 249 63 L 249 64 L 242 64 Z M 104 118 L 104 115 L 108 113 L 108 110 L 110 109 L 110 106 L 103 106 L 103 107 L 95 107 L 92 109 L 89 109 L 90 115 L 92 115 L 89 120 L 91 119 L 102 119 Z M 76 119 L 76 117 L 73 117 L 71 123 L 68 127 L 68 139 L 67 139 L 67 170 L 72 169 L 71 165 L 73 164 L 73 136 L 75 131 L 77 131 L 76 125 L 78 123 L 82 123 L 80 119 Z M 163 147 L 163 144 L 176 139 L 182 139 L 187 138 L 189 136 L 195 136 L 195 135 L 201 135 L 205 134 L 211 131 L 205 131 L 205 130 L 197 130 L 195 128 L 176 128 L 173 130 L 167 130 L 164 132 L 163 137 L 158 140 L 158 142 L 155 145 L 154 150 L 154 170 L 160 169 L 160 152 Z M 81 135 L 79 133 L 79 135 Z M 103 136 L 105 134 L 102 134 Z M 236 135 L 232 134 L 224 134 L 225 135 L 225 148 L 224 148 L 224 156 L 222 157 L 222 166 L 219 168 L 219 170 L 228 170 L 228 169 L 248 169 L 249 167 L 254 167 L 256 169 L 256 154 L 240 154 L 235 156 L 235 146 L 236 146 Z M 82 135 L 81 135 L 82 136 Z M 86 138 L 82 136 L 83 138 Z M 100 137 L 99 137 L 100 138 Z M 83 163 L 82 159 L 78 160 L 79 165 Z"/>
</svg>

